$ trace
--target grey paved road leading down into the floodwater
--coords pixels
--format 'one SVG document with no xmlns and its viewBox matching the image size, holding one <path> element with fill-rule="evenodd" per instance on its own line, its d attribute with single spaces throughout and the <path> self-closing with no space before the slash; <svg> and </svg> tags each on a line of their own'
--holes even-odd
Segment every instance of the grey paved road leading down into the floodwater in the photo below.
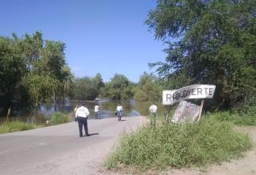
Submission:
<svg viewBox="0 0 256 175">
<path fill-rule="evenodd" d="M 144 116 L 88 120 L 90 137 L 77 123 L 0 135 L 0 174 L 109 174 L 105 156 L 122 131 L 136 129 Z"/>
</svg>

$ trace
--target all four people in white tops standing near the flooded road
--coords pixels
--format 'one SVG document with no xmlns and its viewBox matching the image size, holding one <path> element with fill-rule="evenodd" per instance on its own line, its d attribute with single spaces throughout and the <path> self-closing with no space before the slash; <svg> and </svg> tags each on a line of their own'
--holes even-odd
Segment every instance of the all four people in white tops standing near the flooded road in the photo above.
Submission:
<svg viewBox="0 0 256 175">
<path fill-rule="evenodd" d="M 149 108 L 150 116 L 151 116 L 151 125 L 156 124 L 156 117 L 157 117 L 157 106 L 155 103 L 151 105 Z M 82 137 L 82 126 L 85 128 L 85 136 L 90 136 L 88 133 L 88 116 L 90 114 L 88 108 L 85 107 L 85 102 L 82 102 L 81 106 L 79 107 L 76 105 L 76 108 L 74 109 L 75 114 L 75 122 L 78 122 L 79 127 L 79 136 Z M 116 107 L 116 116 L 118 121 L 122 121 L 122 105 L 119 103 Z M 99 115 L 99 105 L 96 103 L 94 106 L 94 119 L 100 119 Z"/>
</svg>

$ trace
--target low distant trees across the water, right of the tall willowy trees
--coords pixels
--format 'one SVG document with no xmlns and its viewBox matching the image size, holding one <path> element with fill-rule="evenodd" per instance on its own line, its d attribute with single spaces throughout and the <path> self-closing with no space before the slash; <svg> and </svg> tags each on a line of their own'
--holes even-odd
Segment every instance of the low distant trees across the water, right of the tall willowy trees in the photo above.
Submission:
<svg viewBox="0 0 256 175">
<path fill-rule="evenodd" d="M 71 99 L 93 100 L 97 96 L 114 100 L 137 99 L 160 101 L 163 84 L 153 73 L 143 73 L 138 83 L 131 82 L 125 75 L 116 73 L 110 82 L 104 83 L 102 76 L 76 78 L 70 91 Z"/>
</svg>

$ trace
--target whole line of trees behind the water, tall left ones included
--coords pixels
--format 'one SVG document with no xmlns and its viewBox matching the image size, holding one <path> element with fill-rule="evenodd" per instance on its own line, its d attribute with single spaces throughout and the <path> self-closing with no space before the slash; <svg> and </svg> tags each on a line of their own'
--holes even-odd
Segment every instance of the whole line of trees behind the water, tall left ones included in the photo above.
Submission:
<svg viewBox="0 0 256 175">
<path fill-rule="evenodd" d="M 65 62 L 65 43 L 44 40 L 42 33 L 21 38 L 0 36 L 0 113 L 38 106 L 41 102 L 65 102 L 67 97 L 93 100 L 160 100 L 160 79 L 144 73 L 139 83 L 116 73 L 110 82 L 102 76 L 75 78 Z"/>
</svg>

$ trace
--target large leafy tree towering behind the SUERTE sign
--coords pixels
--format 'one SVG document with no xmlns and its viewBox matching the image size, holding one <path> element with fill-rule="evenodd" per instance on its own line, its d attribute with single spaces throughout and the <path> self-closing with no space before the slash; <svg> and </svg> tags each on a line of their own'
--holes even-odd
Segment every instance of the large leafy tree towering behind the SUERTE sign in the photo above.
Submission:
<svg viewBox="0 0 256 175">
<path fill-rule="evenodd" d="M 157 1 L 146 24 L 169 47 L 150 66 L 168 80 L 217 85 L 217 104 L 230 108 L 255 94 L 255 9 L 254 0 Z"/>
</svg>

